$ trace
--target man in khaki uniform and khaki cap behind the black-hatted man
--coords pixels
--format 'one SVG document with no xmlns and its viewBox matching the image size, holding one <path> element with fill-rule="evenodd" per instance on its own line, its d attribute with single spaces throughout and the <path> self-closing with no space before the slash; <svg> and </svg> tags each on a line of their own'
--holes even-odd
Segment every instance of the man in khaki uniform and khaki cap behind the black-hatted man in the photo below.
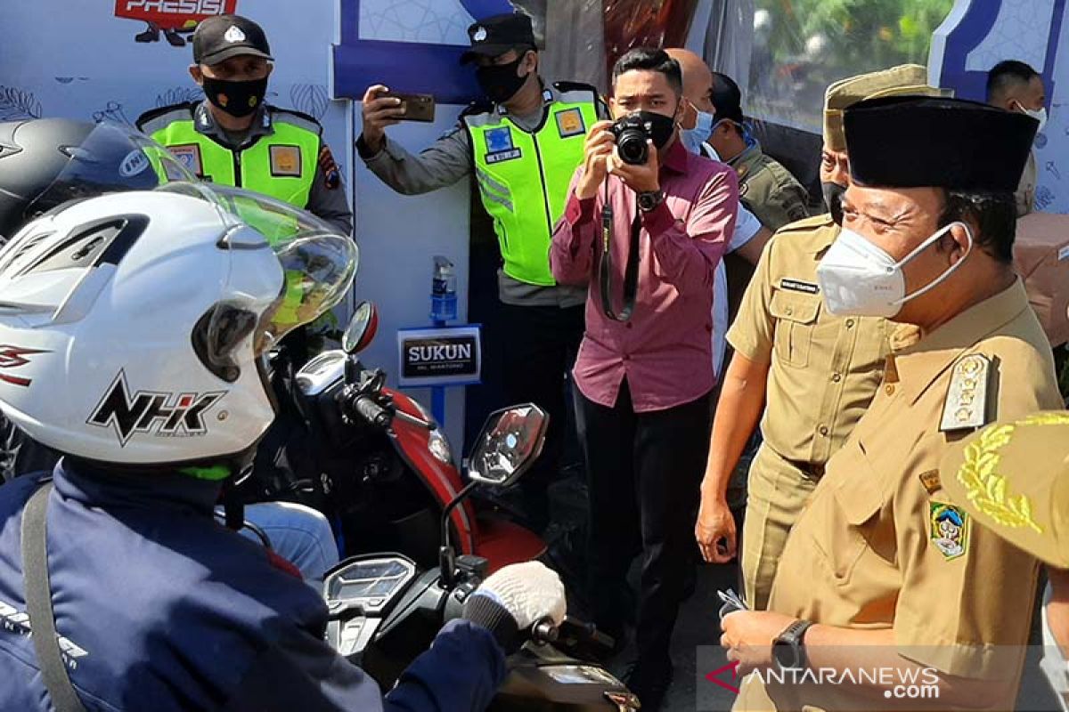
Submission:
<svg viewBox="0 0 1069 712">
<path fill-rule="evenodd" d="M 817 284 L 817 264 L 839 233 L 838 194 L 850 183 L 842 110 L 868 96 L 936 91 L 926 77 L 924 67 L 904 65 L 828 86 L 820 173 L 831 213 L 779 231 L 728 331 L 735 352 L 713 421 L 695 535 L 706 560 L 734 556 L 727 487 L 764 406 L 742 544 L 743 586 L 755 608 L 768 601 L 787 533 L 824 463 L 872 399 L 886 354 L 884 320 L 830 314 Z"/>
</svg>

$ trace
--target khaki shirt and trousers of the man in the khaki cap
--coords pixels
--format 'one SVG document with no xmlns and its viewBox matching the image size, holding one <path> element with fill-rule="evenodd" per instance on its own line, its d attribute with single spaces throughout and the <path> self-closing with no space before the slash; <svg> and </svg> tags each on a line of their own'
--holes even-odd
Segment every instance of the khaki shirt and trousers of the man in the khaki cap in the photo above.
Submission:
<svg viewBox="0 0 1069 712">
<path fill-rule="evenodd" d="M 757 610 L 765 606 L 791 525 L 868 408 L 887 354 L 884 319 L 838 317 L 823 303 L 817 265 L 838 234 L 827 215 L 780 230 L 727 334 L 743 357 L 771 364 L 742 539 L 746 600 Z"/>
</svg>

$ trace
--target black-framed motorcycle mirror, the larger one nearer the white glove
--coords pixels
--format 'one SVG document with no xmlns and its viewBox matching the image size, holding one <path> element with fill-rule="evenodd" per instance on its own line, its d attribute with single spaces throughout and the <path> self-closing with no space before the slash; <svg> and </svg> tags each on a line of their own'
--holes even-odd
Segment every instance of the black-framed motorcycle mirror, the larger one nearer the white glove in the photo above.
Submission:
<svg viewBox="0 0 1069 712">
<path fill-rule="evenodd" d="M 549 415 L 534 404 L 491 413 L 468 458 L 471 481 L 508 487 L 542 453 Z"/>
</svg>

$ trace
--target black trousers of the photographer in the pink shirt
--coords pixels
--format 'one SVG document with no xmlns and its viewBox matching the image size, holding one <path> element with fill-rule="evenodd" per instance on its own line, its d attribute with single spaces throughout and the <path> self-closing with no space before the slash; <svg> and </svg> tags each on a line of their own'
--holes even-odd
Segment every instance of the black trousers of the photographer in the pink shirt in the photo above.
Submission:
<svg viewBox="0 0 1069 712">
<path fill-rule="evenodd" d="M 594 622 L 610 634 L 630 618 L 628 569 L 641 554 L 637 644 L 641 665 L 669 661 L 709 452 L 709 394 L 682 406 L 635 413 L 624 381 L 614 408 L 575 390 L 587 460 L 587 561 Z"/>
</svg>

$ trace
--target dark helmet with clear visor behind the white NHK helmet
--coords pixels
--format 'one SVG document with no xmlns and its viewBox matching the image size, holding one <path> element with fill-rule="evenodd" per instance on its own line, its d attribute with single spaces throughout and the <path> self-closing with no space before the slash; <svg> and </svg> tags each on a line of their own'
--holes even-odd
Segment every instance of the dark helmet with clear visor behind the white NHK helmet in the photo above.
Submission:
<svg viewBox="0 0 1069 712">
<path fill-rule="evenodd" d="M 166 148 L 122 124 L 0 122 L 0 238 L 73 199 L 195 179 Z"/>
</svg>

